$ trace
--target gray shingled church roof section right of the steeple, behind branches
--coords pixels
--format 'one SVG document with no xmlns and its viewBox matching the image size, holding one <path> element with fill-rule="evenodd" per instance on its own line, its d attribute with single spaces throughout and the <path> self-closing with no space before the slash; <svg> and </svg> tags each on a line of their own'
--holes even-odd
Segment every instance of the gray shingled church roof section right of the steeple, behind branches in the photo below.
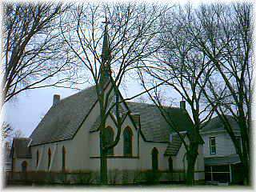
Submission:
<svg viewBox="0 0 256 192">
<path fill-rule="evenodd" d="M 147 103 L 126 102 L 132 113 L 138 113 L 141 116 L 141 130 L 147 141 L 169 142 L 170 126 L 162 117 L 157 106 Z M 174 126 L 178 131 L 190 129 L 193 122 L 185 110 L 176 107 L 168 108 L 170 117 L 173 119 Z"/>
</svg>

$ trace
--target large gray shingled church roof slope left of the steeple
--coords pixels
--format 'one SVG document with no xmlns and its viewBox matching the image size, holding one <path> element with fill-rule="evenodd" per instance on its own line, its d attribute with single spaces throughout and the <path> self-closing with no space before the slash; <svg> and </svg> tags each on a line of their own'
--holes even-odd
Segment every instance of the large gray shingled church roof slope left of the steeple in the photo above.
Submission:
<svg viewBox="0 0 256 192">
<path fill-rule="evenodd" d="M 31 146 L 73 138 L 96 101 L 95 86 L 91 86 L 51 106 L 30 135 Z"/>
</svg>

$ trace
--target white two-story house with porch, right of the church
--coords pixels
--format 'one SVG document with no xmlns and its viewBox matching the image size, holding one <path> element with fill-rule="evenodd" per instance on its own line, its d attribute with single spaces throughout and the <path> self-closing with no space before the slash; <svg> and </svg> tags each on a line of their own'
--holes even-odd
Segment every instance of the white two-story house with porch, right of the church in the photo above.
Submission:
<svg viewBox="0 0 256 192">
<path fill-rule="evenodd" d="M 232 116 L 226 117 L 238 142 L 242 144 L 238 123 Z M 205 157 L 206 181 L 242 182 L 241 161 L 221 119 L 218 117 L 212 118 L 200 134 L 205 142 L 203 154 Z"/>
</svg>

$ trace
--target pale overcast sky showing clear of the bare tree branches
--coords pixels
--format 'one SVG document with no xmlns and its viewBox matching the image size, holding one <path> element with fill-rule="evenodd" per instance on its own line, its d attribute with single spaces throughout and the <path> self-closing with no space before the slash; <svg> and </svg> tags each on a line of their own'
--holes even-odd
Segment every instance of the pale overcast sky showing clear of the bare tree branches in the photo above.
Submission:
<svg viewBox="0 0 256 192">
<path fill-rule="evenodd" d="M 193 5 L 195 6 L 197 4 Z M 122 91 L 125 98 L 138 94 L 141 91 L 136 82 L 129 82 L 126 84 L 126 87 L 127 95 Z M 9 122 L 15 130 L 22 130 L 25 137 L 29 137 L 36 126 L 38 126 L 43 115 L 50 109 L 54 94 L 60 94 L 61 98 L 66 98 L 77 92 L 78 90 L 49 87 L 38 90 L 28 90 L 19 94 L 13 101 L 6 103 L 4 120 Z M 177 98 L 177 101 L 180 99 L 178 95 L 174 93 L 170 93 L 170 97 Z M 256 99 L 254 99 L 254 101 L 256 101 Z M 174 103 L 174 105 L 177 106 L 178 103 Z M 253 108 L 255 108 L 255 105 L 253 105 Z M 253 119 L 255 119 L 255 113 L 252 113 L 252 115 Z"/>
</svg>

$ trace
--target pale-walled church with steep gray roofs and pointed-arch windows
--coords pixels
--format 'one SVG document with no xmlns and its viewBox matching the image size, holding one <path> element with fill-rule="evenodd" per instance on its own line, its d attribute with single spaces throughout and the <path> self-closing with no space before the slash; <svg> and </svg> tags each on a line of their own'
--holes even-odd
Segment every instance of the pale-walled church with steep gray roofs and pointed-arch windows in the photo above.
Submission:
<svg viewBox="0 0 256 192">
<path fill-rule="evenodd" d="M 104 42 L 108 41 L 106 38 L 105 35 Z M 106 89 L 112 86 L 111 83 L 106 84 Z M 118 94 L 122 98 L 121 93 Z M 134 182 L 152 170 L 161 174 L 159 179 L 162 181 L 184 181 L 187 165 L 185 147 L 158 107 L 140 102 L 122 102 L 120 107 L 130 113 L 122 123 L 118 144 L 107 152 L 109 182 Z M 180 107 L 169 107 L 168 111 L 180 134 L 189 142 L 187 133 L 193 122 L 185 102 L 182 101 Z M 53 105 L 30 138 L 14 138 L 10 153 L 13 173 L 85 173 L 90 174 L 92 183 L 97 182 L 100 173 L 100 124 L 95 86 L 63 99 L 54 95 Z M 110 116 L 106 118 L 105 129 L 107 139 L 113 141 L 118 129 Z M 202 144 L 198 147 L 195 164 L 196 181 L 204 180 Z M 75 182 L 75 176 L 72 177 L 66 179 Z"/>
</svg>

